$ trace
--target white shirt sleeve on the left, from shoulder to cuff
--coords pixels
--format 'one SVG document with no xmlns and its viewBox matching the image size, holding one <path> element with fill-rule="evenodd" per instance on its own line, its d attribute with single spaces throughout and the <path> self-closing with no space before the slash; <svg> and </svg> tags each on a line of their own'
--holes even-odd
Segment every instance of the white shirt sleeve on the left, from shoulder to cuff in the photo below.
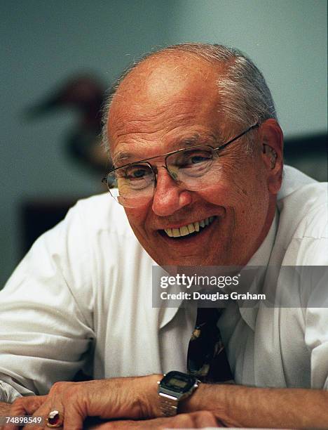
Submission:
<svg viewBox="0 0 328 430">
<path fill-rule="evenodd" d="M 93 351 L 93 267 L 78 207 L 35 242 L 0 292 L 0 379 L 23 395 L 71 380 Z M 2 396 L 15 396 L 2 384 Z"/>
</svg>

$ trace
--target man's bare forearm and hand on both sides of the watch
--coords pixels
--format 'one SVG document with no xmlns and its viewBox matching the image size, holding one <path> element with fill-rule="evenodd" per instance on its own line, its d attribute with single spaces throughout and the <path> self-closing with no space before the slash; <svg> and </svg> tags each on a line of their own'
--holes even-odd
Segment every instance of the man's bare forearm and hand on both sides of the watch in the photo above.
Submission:
<svg viewBox="0 0 328 430">
<path fill-rule="evenodd" d="M 157 381 L 161 377 L 153 374 L 78 383 L 60 382 L 50 389 L 48 396 L 16 400 L 11 415 L 46 415 L 55 400 L 56 408 L 66 411 L 68 428 L 81 427 L 86 417 L 156 419 L 162 416 L 157 394 Z M 233 427 L 327 429 L 327 405 L 328 391 L 200 384 L 192 396 L 182 400 L 178 412 L 209 411 L 210 418 L 214 417 L 217 424 L 222 422 Z"/>
</svg>

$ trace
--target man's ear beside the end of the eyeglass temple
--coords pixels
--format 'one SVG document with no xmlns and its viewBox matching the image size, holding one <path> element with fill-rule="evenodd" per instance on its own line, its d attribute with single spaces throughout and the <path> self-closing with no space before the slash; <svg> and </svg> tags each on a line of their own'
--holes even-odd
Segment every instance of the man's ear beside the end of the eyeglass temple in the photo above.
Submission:
<svg viewBox="0 0 328 430">
<path fill-rule="evenodd" d="M 262 159 L 267 172 L 268 190 L 276 195 L 280 190 L 283 168 L 283 134 L 278 122 L 267 119 L 259 129 Z"/>
</svg>

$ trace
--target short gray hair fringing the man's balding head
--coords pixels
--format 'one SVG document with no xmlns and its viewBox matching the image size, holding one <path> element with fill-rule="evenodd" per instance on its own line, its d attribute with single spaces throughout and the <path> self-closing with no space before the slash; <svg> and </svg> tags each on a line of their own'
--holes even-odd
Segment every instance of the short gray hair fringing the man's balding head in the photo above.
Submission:
<svg viewBox="0 0 328 430">
<path fill-rule="evenodd" d="M 135 61 L 124 70 L 114 86 L 111 87 L 103 110 L 102 140 L 107 150 L 109 150 L 107 117 L 118 86 L 131 70 L 135 69 L 142 61 L 149 57 L 163 56 L 163 54 L 176 51 L 194 54 L 212 65 L 225 66 L 224 71 L 220 71 L 217 79 L 220 95 L 219 112 L 230 122 L 238 124 L 241 128 L 247 128 L 253 124 L 261 124 L 269 118 L 277 119 L 273 98 L 263 74 L 242 51 L 217 44 L 172 45 L 160 49 L 160 51 L 147 53 Z M 252 141 L 252 133 L 247 136 L 247 141 L 248 143 Z"/>
</svg>

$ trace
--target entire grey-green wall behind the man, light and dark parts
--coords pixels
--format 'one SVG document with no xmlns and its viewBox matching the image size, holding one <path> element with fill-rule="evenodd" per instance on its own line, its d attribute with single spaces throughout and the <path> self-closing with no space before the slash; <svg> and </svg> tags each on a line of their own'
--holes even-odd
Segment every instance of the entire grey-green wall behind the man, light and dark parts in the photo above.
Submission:
<svg viewBox="0 0 328 430">
<path fill-rule="evenodd" d="M 153 46 L 233 45 L 264 72 L 287 136 L 327 127 L 324 0 L 6 0 L 0 13 L 0 285 L 20 254 L 22 200 L 102 190 L 100 178 L 64 155 L 72 113 L 34 123 L 21 116 L 76 70 L 93 70 L 112 82 Z"/>
</svg>

